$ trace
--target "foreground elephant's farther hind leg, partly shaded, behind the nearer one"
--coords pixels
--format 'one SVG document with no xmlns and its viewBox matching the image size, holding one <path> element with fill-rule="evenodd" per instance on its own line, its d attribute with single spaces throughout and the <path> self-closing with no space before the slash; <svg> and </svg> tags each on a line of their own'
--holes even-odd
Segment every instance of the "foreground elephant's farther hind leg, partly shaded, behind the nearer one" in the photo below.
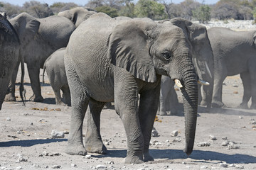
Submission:
<svg viewBox="0 0 256 170">
<path fill-rule="evenodd" d="M 90 99 L 89 109 L 85 115 L 87 121 L 85 129 L 85 149 L 87 152 L 106 154 L 107 148 L 103 145 L 100 136 L 100 113 L 104 107 L 104 102 Z"/>
</svg>

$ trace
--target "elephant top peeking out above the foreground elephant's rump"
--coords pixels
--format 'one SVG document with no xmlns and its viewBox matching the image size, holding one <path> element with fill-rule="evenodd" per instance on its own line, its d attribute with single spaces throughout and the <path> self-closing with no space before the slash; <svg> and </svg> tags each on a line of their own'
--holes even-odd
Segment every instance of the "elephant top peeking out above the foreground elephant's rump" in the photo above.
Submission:
<svg viewBox="0 0 256 170">
<path fill-rule="evenodd" d="M 92 16 L 94 13 L 96 13 L 96 11 L 92 11 L 90 8 L 76 7 L 61 11 L 58 13 L 58 16 L 64 16 L 70 19 L 70 21 L 75 24 L 75 27 L 78 27 L 80 23 L 87 20 L 87 18 Z"/>
</svg>

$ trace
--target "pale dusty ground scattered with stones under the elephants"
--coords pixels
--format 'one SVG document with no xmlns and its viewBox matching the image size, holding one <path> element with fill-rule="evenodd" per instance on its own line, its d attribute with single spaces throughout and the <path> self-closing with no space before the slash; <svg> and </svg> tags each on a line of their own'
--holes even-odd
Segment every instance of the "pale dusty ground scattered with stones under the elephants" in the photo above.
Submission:
<svg viewBox="0 0 256 170">
<path fill-rule="evenodd" d="M 205 108 L 198 106 L 195 146 L 189 157 L 183 153 L 183 115 L 158 116 L 154 127 L 159 136 L 151 137 L 150 146 L 155 161 L 144 164 L 122 162 L 127 140 L 114 109 L 103 110 L 101 117 L 107 154 L 91 154 L 91 157 L 65 154 L 68 134 L 53 139 L 51 132 L 68 132 L 71 108 L 55 105 L 47 76 L 46 84 L 41 86 L 45 101 L 28 101 L 32 91 L 27 72 L 25 80 L 26 107 L 18 97 L 17 86 L 17 101 L 4 102 L 0 111 L 0 169 L 256 169 L 256 110 L 238 108 L 243 93 L 239 76 L 228 77 L 223 85 L 227 108 L 205 113 Z M 180 91 L 178 96 L 181 101 Z M 178 136 L 171 137 L 174 130 Z M 216 140 L 211 140 L 210 135 Z M 202 147 L 203 144 L 210 146 Z"/>
</svg>

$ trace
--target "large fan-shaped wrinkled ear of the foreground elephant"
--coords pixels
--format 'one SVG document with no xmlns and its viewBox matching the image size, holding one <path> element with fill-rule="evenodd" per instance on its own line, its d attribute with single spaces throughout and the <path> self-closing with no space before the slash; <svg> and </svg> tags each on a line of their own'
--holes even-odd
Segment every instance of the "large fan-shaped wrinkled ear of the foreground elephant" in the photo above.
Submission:
<svg viewBox="0 0 256 170">
<path fill-rule="evenodd" d="M 137 79 L 156 81 L 156 71 L 149 55 L 149 32 L 156 23 L 124 21 L 117 25 L 110 35 L 107 57 L 112 64 L 130 72 Z"/>
</svg>

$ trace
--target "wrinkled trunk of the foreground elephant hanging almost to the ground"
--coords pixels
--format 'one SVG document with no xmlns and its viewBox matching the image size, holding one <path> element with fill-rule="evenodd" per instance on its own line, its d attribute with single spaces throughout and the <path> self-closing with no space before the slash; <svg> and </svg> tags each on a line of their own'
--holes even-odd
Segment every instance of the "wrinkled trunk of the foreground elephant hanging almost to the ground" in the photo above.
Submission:
<svg viewBox="0 0 256 170">
<path fill-rule="evenodd" d="M 198 78 L 195 69 L 185 72 L 183 76 L 183 107 L 185 115 L 186 147 L 183 150 L 187 155 L 193 151 L 196 134 L 196 119 L 198 109 Z"/>
</svg>

